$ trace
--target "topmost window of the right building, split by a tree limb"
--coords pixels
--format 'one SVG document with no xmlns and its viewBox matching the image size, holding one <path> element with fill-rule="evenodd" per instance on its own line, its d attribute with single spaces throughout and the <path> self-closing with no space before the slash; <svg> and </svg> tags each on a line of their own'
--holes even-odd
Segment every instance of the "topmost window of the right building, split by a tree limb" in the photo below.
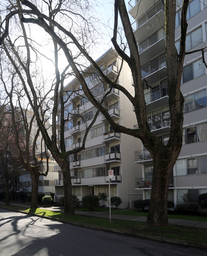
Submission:
<svg viewBox="0 0 207 256">
<path fill-rule="evenodd" d="M 188 11 L 187 11 L 187 17 L 186 17 L 187 20 L 195 16 L 200 11 L 201 11 L 200 0 L 192 0 L 188 5 Z M 180 20 L 181 20 L 181 11 L 179 10 L 178 12 L 176 12 L 176 15 L 175 15 L 175 27 L 180 26 Z"/>
</svg>

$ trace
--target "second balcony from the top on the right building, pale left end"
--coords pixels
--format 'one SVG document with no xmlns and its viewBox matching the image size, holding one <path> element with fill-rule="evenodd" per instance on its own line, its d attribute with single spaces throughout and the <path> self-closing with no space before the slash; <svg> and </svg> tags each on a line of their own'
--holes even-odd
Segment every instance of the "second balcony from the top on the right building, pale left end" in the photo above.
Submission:
<svg viewBox="0 0 207 256">
<path fill-rule="evenodd" d="M 142 5 L 142 4 L 140 4 Z M 140 17 L 140 16 L 139 16 Z M 139 19 L 132 23 L 132 29 L 137 42 L 142 41 L 165 24 L 165 4 L 157 2 Z M 147 28 L 147 29 L 146 29 Z"/>
</svg>

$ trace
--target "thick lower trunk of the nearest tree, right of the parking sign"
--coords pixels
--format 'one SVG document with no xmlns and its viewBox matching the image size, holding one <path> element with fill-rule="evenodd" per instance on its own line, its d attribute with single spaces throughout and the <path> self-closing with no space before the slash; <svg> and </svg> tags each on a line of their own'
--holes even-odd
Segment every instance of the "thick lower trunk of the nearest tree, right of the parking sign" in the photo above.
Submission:
<svg viewBox="0 0 207 256">
<path fill-rule="evenodd" d="M 168 190 L 172 167 L 162 157 L 153 159 L 153 179 L 147 226 L 168 225 Z"/>
</svg>

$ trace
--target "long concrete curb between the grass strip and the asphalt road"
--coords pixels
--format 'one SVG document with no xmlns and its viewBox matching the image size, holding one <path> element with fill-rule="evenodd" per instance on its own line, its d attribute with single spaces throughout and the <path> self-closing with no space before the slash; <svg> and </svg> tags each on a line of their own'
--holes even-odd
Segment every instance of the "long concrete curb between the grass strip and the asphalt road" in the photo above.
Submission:
<svg viewBox="0 0 207 256">
<path fill-rule="evenodd" d="M 0 206 L 0 208 L 7 209 L 7 208 L 2 207 L 2 206 Z M 89 229 L 104 230 L 106 232 L 111 232 L 111 233 L 131 236 L 131 237 L 137 237 L 137 238 L 146 239 L 146 240 L 153 240 L 153 241 L 157 241 L 157 242 L 161 242 L 161 243 L 179 244 L 179 245 L 184 245 L 184 246 L 187 246 L 187 247 L 196 247 L 196 248 L 201 248 L 201 249 L 207 249 L 207 244 L 203 244 L 203 243 L 186 242 L 184 240 L 173 239 L 173 238 L 168 238 L 168 237 L 146 235 L 146 234 L 126 231 L 126 230 L 105 228 L 105 227 L 100 227 L 100 226 L 96 226 L 96 225 L 88 225 L 88 224 L 84 224 L 84 223 L 80 223 L 80 222 L 76 222 L 76 221 L 68 221 L 68 220 L 58 219 L 58 218 L 49 217 L 49 216 L 42 216 L 42 215 L 33 214 L 33 213 L 26 213 L 26 212 L 21 211 L 21 210 L 10 210 L 10 209 L 7 209 L 7 210 L 17 212 L 17 213 L 24 213 L 24 214 L 27 214 L 27 215 L 30 215 L 30 216 L 36 216 L 36 217 L 47 219 L 47 220 L 58 221 L 58 222 L 61 222 L 61 223 L 68 223 L 68 224 L 71 224 L 71 225 L 76 225 L 76 226 L 79 226 L 79 227 L 84 227 L 84 228 L 89 228 Z"/>
</svg>

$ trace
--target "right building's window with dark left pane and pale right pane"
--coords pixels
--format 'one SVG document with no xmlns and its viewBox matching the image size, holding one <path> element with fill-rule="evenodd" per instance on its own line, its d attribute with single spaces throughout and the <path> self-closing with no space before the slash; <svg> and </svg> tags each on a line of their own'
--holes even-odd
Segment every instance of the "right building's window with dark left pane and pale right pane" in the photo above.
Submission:
<svg viewBox="0 0 207 256">
<path fill-rule="evenodd" d="M 198 59 L 193 63 L 183 67 L 182 82 L 186 83 L 205 74 L 205 67 L 202 65 L 202 59 Z"/>
</svg>

